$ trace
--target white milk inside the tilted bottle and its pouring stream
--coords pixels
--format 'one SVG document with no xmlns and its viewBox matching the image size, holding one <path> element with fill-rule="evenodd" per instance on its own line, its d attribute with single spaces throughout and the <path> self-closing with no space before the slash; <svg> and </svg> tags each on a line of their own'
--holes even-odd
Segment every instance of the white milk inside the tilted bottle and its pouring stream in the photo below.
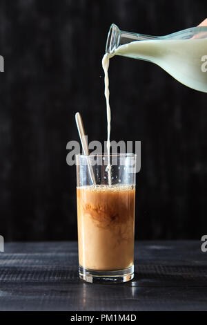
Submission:
<svg viewBox="0 0 207 325">
<path fill-rule="evenodd" d="M 107 112 L 107 153 L 108 183 L 111 185 L 110 174 L 110 104 L 108 89 L 109 59 L 114 55 L 146 59 L 164 68 L 172 77 L 197 91 L 207 93 L 207 39 L 152 39 L 148 41 L 132 41 L 121 45 L 115 53 L 106 53 L 102 59 L 105 73 L 105 96 Z"/>
</svg>

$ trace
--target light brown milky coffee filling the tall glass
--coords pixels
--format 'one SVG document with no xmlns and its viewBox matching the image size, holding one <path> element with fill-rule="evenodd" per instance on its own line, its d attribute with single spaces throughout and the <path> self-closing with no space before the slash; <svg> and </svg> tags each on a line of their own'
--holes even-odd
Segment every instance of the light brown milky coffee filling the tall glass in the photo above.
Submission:
<svg viewBox="0 0 207 325">
<path fill-rule="evenodd" d="M 134 261 L 135 187 L 77 187 L 79 264 L 121 270 Z"/>
</svg>

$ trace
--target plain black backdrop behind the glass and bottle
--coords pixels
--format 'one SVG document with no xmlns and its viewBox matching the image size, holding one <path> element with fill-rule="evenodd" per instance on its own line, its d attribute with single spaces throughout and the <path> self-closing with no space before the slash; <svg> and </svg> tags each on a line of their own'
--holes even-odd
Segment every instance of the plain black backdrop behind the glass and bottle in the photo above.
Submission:
<svg viewBox="0 0 207 325">
<path fill-rule="evenodd" d="M 77 239 L 75 167 L 66 144 L 106 140 L 103 56 L 110 24 L 167 35 L 207 16 L 206 1 L 1 0 L 0 234 Z M 110 63 L 112 140 L 141 140 L 137 239 L 200 239 L 207 226 L 206 93 L 158 66 Z"/>
</svg>

